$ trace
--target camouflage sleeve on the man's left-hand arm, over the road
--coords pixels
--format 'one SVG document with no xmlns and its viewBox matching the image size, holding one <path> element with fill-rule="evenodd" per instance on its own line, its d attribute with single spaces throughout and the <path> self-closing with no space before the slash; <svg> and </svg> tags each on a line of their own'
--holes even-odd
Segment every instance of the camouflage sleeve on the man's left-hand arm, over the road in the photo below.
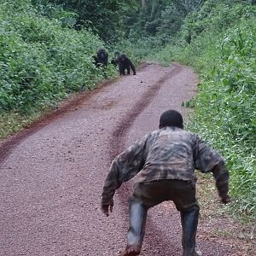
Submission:
<svg viewBox="0 0 256 256">
<path fill-rule="evenodd" d="M 102 205 L 113 204 L 115 190 L 141 171 L 145 163 L 146 140 L 147 137 L 143 137 L 113 160 L 103 185 Z"/>
</svg>

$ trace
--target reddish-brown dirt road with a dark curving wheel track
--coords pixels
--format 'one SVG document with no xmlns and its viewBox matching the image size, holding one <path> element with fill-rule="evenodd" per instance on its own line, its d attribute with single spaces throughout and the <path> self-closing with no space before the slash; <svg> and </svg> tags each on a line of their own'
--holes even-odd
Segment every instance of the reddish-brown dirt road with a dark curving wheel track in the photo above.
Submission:
<svg viewBox="0 0 256 256">
<path fill-rule="evenodd" d="M 157 129 L 164 110 L 185 115 L 181 102 L 195 94 L 197 80 L 189 67 L 148 64 L 3 144 L 0 255 L 118 255 L 125 247 L 132 181 L 115 195 L 113 214 L 103 216 L 102 183 L 111 160 Z M 205 255 L 245 255 L 203 233 L 200 229 L 198 247 Z M 172 203 L 155 207 L 148 213 L 142 255 L 178 255 L 180 236 Z"/>
</svg>

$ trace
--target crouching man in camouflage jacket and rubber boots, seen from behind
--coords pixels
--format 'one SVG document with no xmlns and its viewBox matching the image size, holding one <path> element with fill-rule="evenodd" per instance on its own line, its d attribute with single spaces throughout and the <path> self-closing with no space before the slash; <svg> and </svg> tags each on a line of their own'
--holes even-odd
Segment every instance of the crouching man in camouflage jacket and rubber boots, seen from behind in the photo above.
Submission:
<svg viewBox="0 0 256 256">
<path fill-rule="evenodd" d="M 148 208 L 163 201 L 173 201 L 180 212 L 183 256 L 202 255 L 195 251 L 200 210 L 195 197 L 195 169 L 212 172 L 221 201 L 230 201 L 229 173 L 223 158 L 196 134 L 184 131 L 182 115 L 172 109 L 161 114 L 159 130 L 115 157 L 102 191 L 102 212 L 107 216 L 113 211 L 115 190 L 137 175 L 129 200 L 127 245 L 120 256 L 140 254 Z"/>
</svg>

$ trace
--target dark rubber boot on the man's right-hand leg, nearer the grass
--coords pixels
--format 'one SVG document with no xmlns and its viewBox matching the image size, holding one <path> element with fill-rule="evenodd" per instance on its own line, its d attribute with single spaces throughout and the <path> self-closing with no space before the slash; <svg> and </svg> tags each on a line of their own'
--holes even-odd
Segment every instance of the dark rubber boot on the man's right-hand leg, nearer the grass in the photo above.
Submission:
<svg viewBox="0 0 256 256">
<path fill-rule="evenodd" d="M 195 251 L 195 236 L 199 217 L 199 207 L 194 207 L 189 212 L 181 212 L 183 227 L 183 256 L 201 256 L 201 252 Z"/>
</svg>

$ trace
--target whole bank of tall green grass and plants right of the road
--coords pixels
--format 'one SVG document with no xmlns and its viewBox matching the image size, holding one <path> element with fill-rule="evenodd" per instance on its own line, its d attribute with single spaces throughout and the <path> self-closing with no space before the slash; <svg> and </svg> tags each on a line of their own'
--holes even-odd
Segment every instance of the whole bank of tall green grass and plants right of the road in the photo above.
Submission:
<svg viewBox="0 0 256 256">
<path fill-rule="evenodd" d="M 175 44 L 156 55 L 181 61 L 201 74 L 189 130 L 224 155 L 230 170 L 230 208 L 256 219 L 256 8 L 207 1 L 187 17 Z M 188 33 L 191 41 L 188 42 Z"/>
</svg>

